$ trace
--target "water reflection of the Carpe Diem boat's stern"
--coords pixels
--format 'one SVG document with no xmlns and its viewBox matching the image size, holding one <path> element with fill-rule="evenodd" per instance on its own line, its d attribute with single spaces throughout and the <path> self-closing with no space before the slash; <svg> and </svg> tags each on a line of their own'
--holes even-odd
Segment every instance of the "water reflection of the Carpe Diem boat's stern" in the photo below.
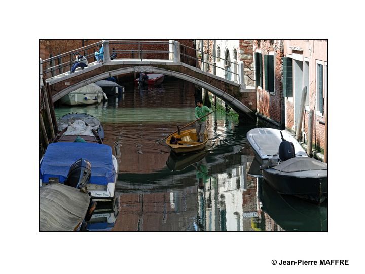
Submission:
<svg viewBox="0 0 365 274">
<path fill-rule="evenodd" d="M 90 221 L 87 222 L 86 231 L 110 231 L 115 225 L 118 216 L 119 199 L 113 203 L 99 202 Z"/>
</svg>

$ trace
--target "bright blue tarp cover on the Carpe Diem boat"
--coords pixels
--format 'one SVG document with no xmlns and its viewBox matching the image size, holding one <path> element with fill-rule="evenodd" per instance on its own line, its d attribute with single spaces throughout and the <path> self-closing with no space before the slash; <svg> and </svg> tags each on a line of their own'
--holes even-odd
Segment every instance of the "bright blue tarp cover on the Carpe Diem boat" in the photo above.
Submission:
<svg viewBox="0 0 365 274">
<path fill-rule="evenodd" d="M 80 158 L 91 163 L 91 184 L 106 185 L 114 182 L 111 147 L 95 143 L 67 142 L 52 143 L 47 147 L 40 166 L 42 182 L 47 183 L 50 177 L 57 177 L 63 183 L 71 165 Z"/>
</svg>

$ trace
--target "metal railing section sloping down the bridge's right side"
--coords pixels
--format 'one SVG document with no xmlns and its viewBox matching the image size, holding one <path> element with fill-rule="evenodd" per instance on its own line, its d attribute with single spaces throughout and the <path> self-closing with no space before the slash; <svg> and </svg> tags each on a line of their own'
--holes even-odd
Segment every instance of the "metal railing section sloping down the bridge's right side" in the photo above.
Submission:
<svg viewBox="0 0 365 274">
<path fill-rule="evenodd" d="M 180 53 L 182 56 L 186 56 L 187 58 L 191 58 L 191 59 L 195 59 L 198 62 L 202 63 L 203 66 L 203 71 L 209 72 L 210 67 L 215 68 L 215 70 L 213 70 L 213 74 L 215 74 L 214 72 L 216 71 L 216 69 L 218 68 L 219 70 L 222 70 L 225 72 L 225 74 L 229 75 L 228 80 L 234 81 L 236 83 L 239 84 L 244 84 L 244 64 L 242 61 L 237 62 L 237 60 L 233 60 L 233 61 L 229 61 L 229 60 L 225 60 L 225 62 L 228 63 L 228 65 L 226 65 L 225 67 L 221 67 L 221 66 L 217 66 L 215 62 L 210 62 L 209 61 L 209 57 L 211 57 L 212 60 L 216 60 L 216 59 L 221 59 L 220 56 L 215 56 L 212 54 L 209 54 L 207 52 L 204 52 L 202 50 L 198 50 L 183 44 L 180 44 L 181 47 L 185 47 L 185 48 L 189 48 L 192 50 L 196 51 L 196 56 L 198 56 L 199 58 L 196 57 L 192 57 L 190 55 L 186 55 L 184 53 Z M 227 68 L 233 68 L 233 71 L 228 70 Z M 232 77 L 233 76 L 233 77 Z"/>
</svg>

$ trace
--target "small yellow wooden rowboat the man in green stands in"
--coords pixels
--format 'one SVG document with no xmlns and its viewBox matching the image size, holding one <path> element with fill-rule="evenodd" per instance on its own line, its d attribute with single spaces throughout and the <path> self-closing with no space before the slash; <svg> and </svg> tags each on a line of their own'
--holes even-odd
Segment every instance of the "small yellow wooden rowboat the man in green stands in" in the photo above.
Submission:
<svg viewBox="0 0 365 274">
<path fill-rule="evenodd" d="M 171 144 L 172 137 L 178 140 L 177 144 Z M 175 152 L 176 154 L 199 151 L 205 148 L 206 142 L 208 141 L 208 134 L 204 132 L 203 142 L 197 141 L 198 138 L 196 130 L 195 128 L 192 128 L 188 130 L 182 130 L 180 134 L 178 132 L 172 134 L 166 139 L 166 144 L 170 147 L 171 151 Z"/>
</svg>

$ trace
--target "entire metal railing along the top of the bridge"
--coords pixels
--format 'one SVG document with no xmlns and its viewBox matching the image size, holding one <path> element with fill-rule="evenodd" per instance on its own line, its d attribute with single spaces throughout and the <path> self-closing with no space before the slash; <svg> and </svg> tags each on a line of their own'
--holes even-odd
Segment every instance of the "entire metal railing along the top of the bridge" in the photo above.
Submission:
<svg viewBox="0 0 365 274">
<path fill-rule="evenodd" d="M 85 56 L 85 58 L 88 60 L 89 65 L 93 63 L 93 60 L 95 58 L 95 47 L 98 45 L 104 46 L 104 62 L 108 62 L 111 60 L 111 56 L 114 56 L 114 59 L 140 59 L 140 61 L 143 61 L 145 59 L 157 59 L 156 55 L 161 55 L 161 59 L 159 60 L 173 60 L 174 62 L 180 62 L 180 56 L 186 57 L 186 60 L 193 59 L 195 61 L 199 61 L 202 64 L 202 70 L 206 71 L 208 73 L 210 70 L 210 67 L 214 67 L 214 75 L 216 69 L 224 71 L 226 74 L 230 74 L 231 80 L 238 83 L 243 83 L 243 75 L 242 70 L 243 63 L 237 63 L 237 60 L 230 61 L 230 60 L 224 60 L 220 58 L 220 56 L 214 56 L 212 54 L 209 54 L 207 52 L 195 49 L 193 47 L 180 44 L 178 41 L 169 40 L 169 41 L 146 41 L 146 40 L 102 40 L 95 42 L 93 44 L 71 50 L 56 56 L 53 56 L 51 58 L 45 59 L 43 61 L 40 61 L 40 80 L 42 77 L 45 79 L 46 76 L 49 76 L 51 74 L 51 77 L 55 77 L 58 75 L 68 75 L 71 71 L 72 65 L 75 63 L 75 60 L 73 60 L 73 56 L 75 53 L 83 53 L 82 55 Z M 128 48 L 126 47 L 128 45 Z M 166 45 L 166 50 L 163 50 L 163 48 L 154 50 L 150 45 Z M 135 47 L 135 48 L 134 48 Z M 182 53 L 184 52 L 195 52 L 189 54 Z M 94 50 L 90 52 L 91 50 Z M 201 54 L 203 57 L 204 55 L 207 56 L 204 59 L 203 58 L 197 58 Z M 118 56 L 118 58 L 117 58 Z M 225 67 L 218 66 L 216 63 L 212 63 L 209 61 L 209 58 L 212 57 L 213 60 L 220 59 L 224 60 L 228 65 Z M 188 65 L 191 65 L 191 62 L 186 61 Z M 61 61 L 61 62 L 60 62 Z M 58 64 L 55 65 L 55 63 L 58 62 Z M 184 60 L 183 60 L 184 62 Z M 227 69 L 227 67 L 233 67 L 233 71 Z M 67 68 L 66 72 L 63 72 L 63 69 Z M 220 77 L 220 76 L 218 76 Z M 49 77 L 48 77 L 49 78 Z M 242 78 L 242 79 L 241 79 Z M 238 81 L 237 81 L 238 80 Z M 41 80 L 42 82 L 42 80 Z"/>
</svg>

